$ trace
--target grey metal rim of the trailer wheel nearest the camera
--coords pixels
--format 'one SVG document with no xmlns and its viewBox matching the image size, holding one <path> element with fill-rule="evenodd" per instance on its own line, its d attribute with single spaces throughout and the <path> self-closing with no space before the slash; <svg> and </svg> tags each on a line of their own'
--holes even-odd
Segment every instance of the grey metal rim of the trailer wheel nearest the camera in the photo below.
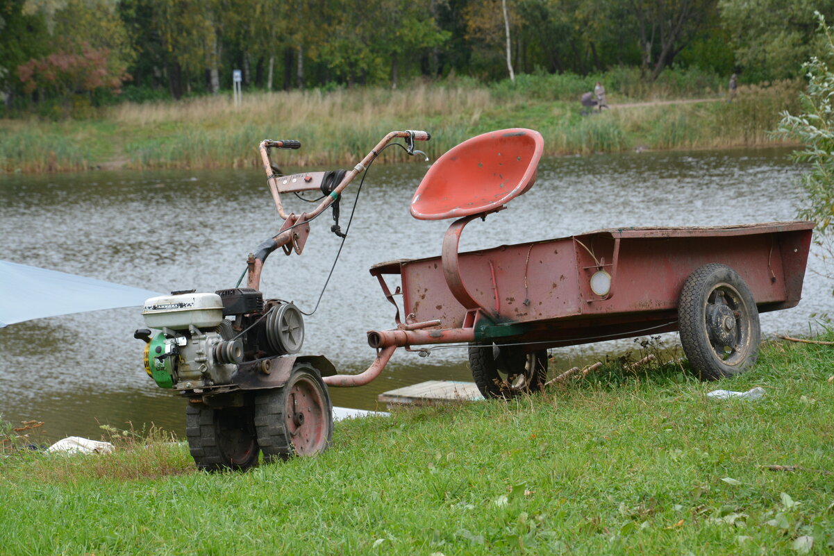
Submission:
<svg viewBox="0 0 834 556">
<path fill-rule="evenodd" d="M 751 348 L 751 313 L 736 288 L 719 283 L 711 289 L 704 323 L 713 356 L 728 366 L 743 363 Z"/>
</svg>

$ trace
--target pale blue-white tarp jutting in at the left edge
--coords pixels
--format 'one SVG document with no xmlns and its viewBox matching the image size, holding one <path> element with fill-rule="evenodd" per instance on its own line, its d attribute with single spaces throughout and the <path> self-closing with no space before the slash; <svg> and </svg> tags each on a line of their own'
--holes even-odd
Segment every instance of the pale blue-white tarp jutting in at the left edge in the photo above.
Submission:
<svg viewBox="0 0 834 556">
<path fill-rule="evenodd" d="M 34 318 L 143 305 L 163 293 L 0 261 L 0 328 Z"/>
</svg>

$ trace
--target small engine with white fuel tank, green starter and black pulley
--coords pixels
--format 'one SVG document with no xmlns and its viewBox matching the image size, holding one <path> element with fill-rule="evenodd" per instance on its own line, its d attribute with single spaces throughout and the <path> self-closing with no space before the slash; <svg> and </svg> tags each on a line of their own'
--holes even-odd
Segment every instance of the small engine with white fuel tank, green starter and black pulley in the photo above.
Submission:
<svg viewBox="0 0 834 556">
<path fill-rule="evenodd" d="M 133 336 L 144 340 L 145 371 L 160 388 L 231 384 L 240 363 L 298 353 L 304 343 L 299 309 L 250 288 L 172 292 L 148 299 L 142 314 L 149 328 Z"/>
</svg>

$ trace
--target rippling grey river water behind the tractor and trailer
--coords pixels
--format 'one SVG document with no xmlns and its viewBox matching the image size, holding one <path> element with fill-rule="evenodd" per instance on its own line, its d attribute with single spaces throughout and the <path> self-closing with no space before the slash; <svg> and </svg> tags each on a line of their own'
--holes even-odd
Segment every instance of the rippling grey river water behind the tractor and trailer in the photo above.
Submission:
<svg viewBox="0 0 834 556">
<path fill-rule="evenodd" d="M 466 228 L 464 250 L 620 226 L 706 226 L 788 220 L 801 202 L 800 168 L 785 149 L 622 153 L 549 158 L 529 193 L 486 223 Z M 440 253 L 446 222 L 410 218 L 408 203 L 426 166 L 374 166 L 319 310 L 306 319 L 304 353 L 327 355 L 341 372 L 374 358 L 365 331 L 391 328 L 393 307 L 374 263 Z M 355 192 L 355 188 L 353 188 Z M 280 222 L 258 170 L 78 173 L 0 178 L 0 259 L 168 292 L 233 287 L 246 254 Z M 354 202 L 342 205 L 342 228 Z M 304 203 L 289 198 L 296 212 Z M 308 205 L 312 206 L 312 205 Z M 308 208 L 309 210 L 309 208 Z M 313 224 L 301 257 L 276 252 L 264 268 L 266 297 L 314 308 L 339 238 L 329 213 Z M 819 264 L 812 257 L 811 264 Z M 13 295 L 3 292 L 3 295 Z M 762 315 L 763 335 L 805 333 L 813 313 L 831 311 L 830 285 L 808 273 L 798 308 Z M 138 308 L 79 313 L 0 329 L 0 414 L 46 422 L 49 438 L 98 438 L 99 423 L 156 423 L 183 433 L 183 400 L 142 368 Z M 552 350 L 557 364 L 598 358 L 631 341 Z M 432 378 L 470 379 L 465 350 L 430 358 L 399 350 L 362 388 L 334 388 L 334 404 L 377 408 L 377 394 Z"/>
</svg>

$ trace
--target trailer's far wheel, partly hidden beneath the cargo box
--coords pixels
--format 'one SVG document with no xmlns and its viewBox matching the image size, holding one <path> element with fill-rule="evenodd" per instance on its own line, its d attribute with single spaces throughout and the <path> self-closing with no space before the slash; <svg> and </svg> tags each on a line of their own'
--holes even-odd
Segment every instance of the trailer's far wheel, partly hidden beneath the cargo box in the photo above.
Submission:
<svg viewBox="0 0 834 556">
<path fill-rule="evenodd" d="M 484 398 L 515 398 L 540 390 L 547 379 L 547 350 L 525 353 L 520 346 L 470 343 L 470 370 Z"/>
</svg>

